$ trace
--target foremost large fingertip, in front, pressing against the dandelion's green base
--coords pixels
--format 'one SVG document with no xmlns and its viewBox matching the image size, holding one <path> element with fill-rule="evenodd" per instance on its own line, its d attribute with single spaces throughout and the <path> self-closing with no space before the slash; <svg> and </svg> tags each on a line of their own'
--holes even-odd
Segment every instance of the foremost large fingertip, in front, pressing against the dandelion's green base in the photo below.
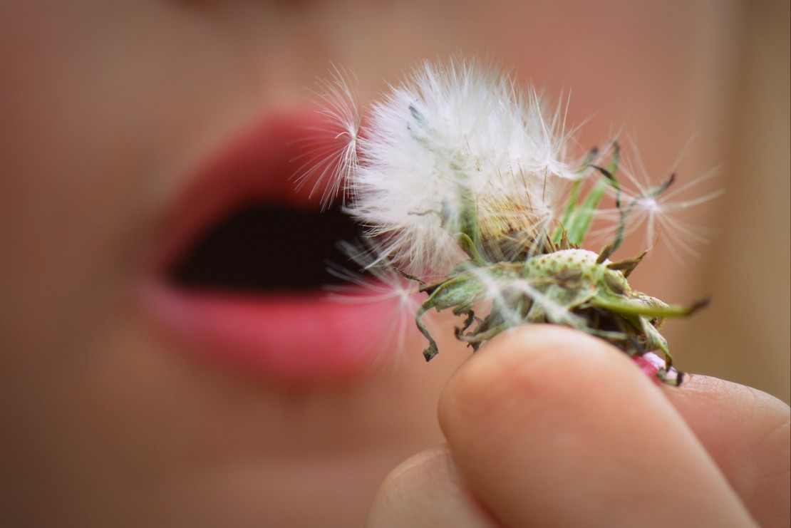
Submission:
<svg viewBox="0 0 791 528">
<path fill-rule="evenodd" d="M 754 526 L 662 391 L 604 341 L 534 325 L 442 394 L 461 477 L 506 526 Z"/>
</svg>

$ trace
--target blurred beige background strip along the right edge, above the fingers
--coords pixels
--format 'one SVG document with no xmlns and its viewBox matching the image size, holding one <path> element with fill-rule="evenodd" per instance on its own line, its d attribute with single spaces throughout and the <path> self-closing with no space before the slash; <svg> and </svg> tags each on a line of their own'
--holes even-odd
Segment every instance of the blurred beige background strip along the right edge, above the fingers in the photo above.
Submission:
<svg viewBox="0 0 791 528">
<path fill-rule="evenodd" d="M 725 2 L 724 2 L 725 3 Z M 685 368 L 789 402 L 789 2 L 734 9 L 736 78 L 725 138 L 721 234 L 700 277 L 713 304 L 679 325 Z"/>
</svg>

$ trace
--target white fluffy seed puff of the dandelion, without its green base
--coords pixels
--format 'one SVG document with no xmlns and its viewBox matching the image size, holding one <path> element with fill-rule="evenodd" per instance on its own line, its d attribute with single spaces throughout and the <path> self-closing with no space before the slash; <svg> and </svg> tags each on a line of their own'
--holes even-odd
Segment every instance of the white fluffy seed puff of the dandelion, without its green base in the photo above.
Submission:
<svg viewBox="0 0 791 528">
<path fill-rule="evenodd" d="M 482 239 L 547 228 L 558 181 L 581 176 L 579 160 L 566 159 L 561 113 L 547 115 L 536 92 L 479 62 L 425 62 L 364 125 L 346 77 L 325 88 L 339 143 L 324 186 L 345 187 L 377 262 L 403 272 L 437 277 L 466 258 L 456 234 L 470 217 Z"/>
</svg>

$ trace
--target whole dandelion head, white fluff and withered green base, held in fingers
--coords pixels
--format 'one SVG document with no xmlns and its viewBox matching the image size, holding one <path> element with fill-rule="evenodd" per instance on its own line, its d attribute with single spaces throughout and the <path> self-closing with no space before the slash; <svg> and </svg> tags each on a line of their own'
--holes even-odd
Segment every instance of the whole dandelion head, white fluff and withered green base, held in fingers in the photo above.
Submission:
<svg viewBox="0 0 791 528">
<path fill-rule="evenodd" d="M 426 360 L 438 349 L 423 317 L 449 309 L 464 318 L 456 337 L 474 350 L 513 326 L 561 324 L 636 359 L 661 351 L 664 367 L 651 375 L 680 383 L 658 329 L 704 303 L 668 305 L 631 289 L 627 277 L 645 254 L 610 260 L 642 224 L 652 236 L 657 224 L 681 227 L 658 213 L 672 208 L 668 182 L 623 189 L 615 143 L 573 157 L 562 107 L 547 111 L 535 90 L 521 91 L 493 66 L 424 62 L 369 108 L 363 126 L 343 82 L 336 74 L 327 84 L 327 115 L 345 141 L 316 170 L 343 188 L 346 211 L 365 228 L 366 266 L 427 295 L 412 307 Z M 607 193 L 615 238 L 601 251 L 583 249 Z"/>
</svg>

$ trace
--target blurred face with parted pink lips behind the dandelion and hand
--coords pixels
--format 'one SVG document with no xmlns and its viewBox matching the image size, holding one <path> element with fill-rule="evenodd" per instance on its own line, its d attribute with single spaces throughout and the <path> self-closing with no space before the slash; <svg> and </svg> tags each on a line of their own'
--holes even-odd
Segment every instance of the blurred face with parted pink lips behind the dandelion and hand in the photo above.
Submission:
<svg viewBox="0 0 791 528">
<path fill-rule="evenodd" d="M 614 123 L 683 123 L 691 81 L 634 74 L 660 51 L 648 26 L 619 25 L 633 8 L 604 17 L 577 2 L 563 22 L 545 3 L 6 2 L 10 511 L 42 524 L 361 524 L 384 475 L 441 442 L 437 395 L 467 352 L 446 336 L 447 353 L 426 365 L 421 336 L 380 337 L 396 325 L 388 304 L 327 304 L 326 277 L 294 271 L 323 267 L 313 248 L 333 236 L 309 213 L 311 186 L 290 179 L 316 125 L 310 88 L 335 63 L 368 100 L 419 59 L 488 54 L 548 91 L 573 86 L 573 123 L 593 108 Z M 653 32 L 677 25 L 674 9 Z M 581 46 L 607 34 L 583 23 L 593 16 L 645 48 L 606 79 L 591 56 L 602 49 Z M 578 40 L 555 35 L 564 25 Z M 661 53 L 682 57 L 686 42 Z M 638 110 L 630 94 L 648 85 L 676 106 Z M 609 126 L 581 141 L 603 141 Z M 641 136 L 646 157 L 674 159 L 679 144 L 657 129 Z M 195 247 L 235 214 L 233 235 L 219 236 L 235 242 L 202 253 L 219 263 L 193 266 Z M 265 284 L 215 281 L 250 262 L 244 273 Z"/>
</svg>

